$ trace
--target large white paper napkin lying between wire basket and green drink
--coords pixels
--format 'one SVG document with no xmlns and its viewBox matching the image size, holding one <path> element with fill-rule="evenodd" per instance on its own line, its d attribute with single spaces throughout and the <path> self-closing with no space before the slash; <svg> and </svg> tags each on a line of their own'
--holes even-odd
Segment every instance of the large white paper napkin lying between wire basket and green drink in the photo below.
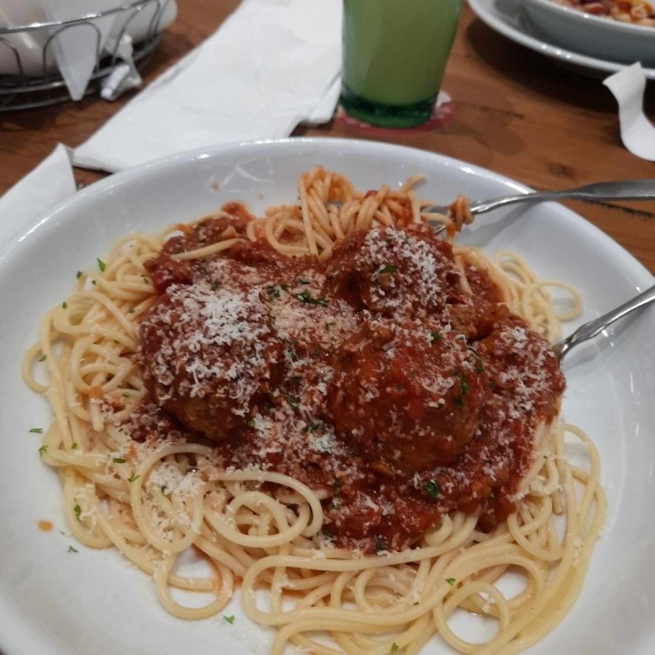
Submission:
<svg viewBox="0 0 655 655">
<path fill-rule="evenodd" d="M 341 0 L 244 0 L 75 150 L 110 172 L 204 145 L 288 136 L 339 95 Z"/>
</svg>

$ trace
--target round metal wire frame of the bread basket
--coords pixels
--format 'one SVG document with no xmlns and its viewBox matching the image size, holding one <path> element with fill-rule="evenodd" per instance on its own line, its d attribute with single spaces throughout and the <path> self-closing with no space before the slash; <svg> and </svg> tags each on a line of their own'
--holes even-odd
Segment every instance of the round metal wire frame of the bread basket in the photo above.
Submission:
<svg viewBox="0 0 655 655">
<path fill-rule="evenodd" d="M 15 74 L 0 73 L 0 111 L 11 111 L 14 109 L 29 109 L 31 107 L 44 107 L 58 102 L 70 100 L 64 78 L 52 66 L 53 53 L 52 43 L 62 32 L 67 30 L 92 30 L 96 42 L 96 63 L 84 95 L 92 94 L 100 88 L 103 78 L 111 74 L 119 62 L 118 47 L 121 37 L 128 32 L 130 25 L 138 19 L 147 20 L 145 37 L 134 45 L 134 63 L 138 69 L 142 69 L 150 60 L 155 48 L 160 41 L 160 24 L 166 7 L 172 0 L 138 0 L 121 7 L 115 7 L 103 12 L 86 14 L 73 20 L 62 20 L 55 22 L 32 23 L 16 27 L 0 27 L 0 49 L 9 54 L 12 62 L 15 62 Z M 110 52 L 103 52 L 101 49 L 101 32 L 94 20 L 115 16 L 114 24 L 118 24 L 118 38 L 116 45 Z M 37 75 L 26 74 L 26 65 L 22 60 L 20 48 L 16 41 L 12 41 L 10 35 L 33 35 L 40 33 L 45 37 L 45 45 L 40 53 L 42 64 L 39 65 Z M 43 41 L 43 38 L 41 39 Z"/>
</svg>

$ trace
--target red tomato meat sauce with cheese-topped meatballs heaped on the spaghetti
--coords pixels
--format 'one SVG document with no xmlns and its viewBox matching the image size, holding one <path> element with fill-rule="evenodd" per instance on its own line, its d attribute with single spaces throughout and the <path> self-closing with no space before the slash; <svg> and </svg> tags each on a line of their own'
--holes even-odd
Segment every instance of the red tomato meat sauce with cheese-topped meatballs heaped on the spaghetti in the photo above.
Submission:
<svg viewBox="0 0 655 655">
<path fill-rule="evenodd" d="M 565 381 L 487 272 L 412 224 L 292 258 L 249 242 L 250 214 L 226 209 L 145 263 L 148 392 L 124 428 L 326 490 L 324 538 L 364 553 L 406 548 L 451 510 L 485 531 L 514 511 Z M 240 240 L 175 257 L 225 238 Z"/>
</svg>

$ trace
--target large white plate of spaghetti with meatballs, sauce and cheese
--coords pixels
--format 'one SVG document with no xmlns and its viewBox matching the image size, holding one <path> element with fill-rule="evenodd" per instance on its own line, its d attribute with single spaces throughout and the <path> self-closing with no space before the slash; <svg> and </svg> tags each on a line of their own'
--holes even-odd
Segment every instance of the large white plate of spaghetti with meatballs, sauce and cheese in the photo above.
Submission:
<svg viewBox="0 0 655 655">
<path fill-rule="evenodd" d="M 246 143 L 8 244 L 7 655 L 651 652 L 652 317 L 552 350 L 651 276 L 555 204 L 472 221 L 508 191 Z"/>
</svg>

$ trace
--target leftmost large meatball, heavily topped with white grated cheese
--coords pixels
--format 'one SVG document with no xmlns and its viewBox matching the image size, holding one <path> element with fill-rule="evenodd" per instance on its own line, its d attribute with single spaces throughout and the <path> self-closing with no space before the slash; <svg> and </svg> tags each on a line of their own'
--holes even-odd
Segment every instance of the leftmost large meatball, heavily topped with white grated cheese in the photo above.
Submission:
<svg viewBox="0 0 655 655">
<path fill-rule="evenodd" d="M 265 291 L 173 284 L 140 326 L 136 359 L 160 407 L 220 441 L 281 375 Z"/>
</svg>

